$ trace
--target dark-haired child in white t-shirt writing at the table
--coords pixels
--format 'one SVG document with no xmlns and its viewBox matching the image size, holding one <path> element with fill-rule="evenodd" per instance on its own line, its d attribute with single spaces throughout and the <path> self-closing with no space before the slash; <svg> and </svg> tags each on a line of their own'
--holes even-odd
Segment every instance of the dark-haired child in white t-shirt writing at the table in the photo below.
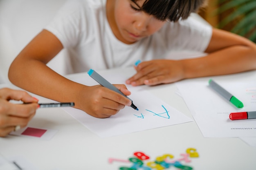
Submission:
<svg viewBox="0 0 256 170">
<path fill-rule="evenodd" d="M 70 0 L 16 57 L 9 79 L 58 102 L 74 101 L 76 108 L 103 118 L 130 106 L 130 100 L 101 85 L 78 84 L 52 71 L 46 64 L 63 48 L 70 53 L 74 73 L 145 61 L 126 81 L 133 86 L 256 69 L 254 43 L 189 17 L 203 4 L 204 0 Z M 208 55 L 167 60 L 166 54 L 173 50 Z M 115 86 L 130 95 L 124 84 Z"/>
</svg>

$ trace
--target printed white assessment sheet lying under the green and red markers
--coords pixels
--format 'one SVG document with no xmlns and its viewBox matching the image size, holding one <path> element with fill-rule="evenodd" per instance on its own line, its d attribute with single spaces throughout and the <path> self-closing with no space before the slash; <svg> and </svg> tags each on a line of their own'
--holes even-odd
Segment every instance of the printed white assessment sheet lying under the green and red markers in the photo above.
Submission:
<svg viewBox="0 0 256 170">
<path fill-rule="evenodd" d="M 236 108 L 213 91 L 208 82 L 175 83 L 204 137 L 256 137 L 256 119 L 229 119 L 230 113 L 256 110 L 256 83 L 217 83 L 243 102 L 244 107 Z"/>
</svg>

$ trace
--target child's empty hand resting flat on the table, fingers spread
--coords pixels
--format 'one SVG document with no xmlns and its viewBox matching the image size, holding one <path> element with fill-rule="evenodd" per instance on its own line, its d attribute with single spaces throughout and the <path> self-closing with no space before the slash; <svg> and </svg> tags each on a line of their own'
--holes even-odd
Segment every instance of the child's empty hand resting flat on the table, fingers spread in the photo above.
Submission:
<svg viewBox="0 0 256 170">
<path fill-rule="evenodd" d="M 132 86 L 157 85 L 184 79 L 182 60 L 151 60 L 135 67 L 137 73 L 126 80 Z"/>
</svg>

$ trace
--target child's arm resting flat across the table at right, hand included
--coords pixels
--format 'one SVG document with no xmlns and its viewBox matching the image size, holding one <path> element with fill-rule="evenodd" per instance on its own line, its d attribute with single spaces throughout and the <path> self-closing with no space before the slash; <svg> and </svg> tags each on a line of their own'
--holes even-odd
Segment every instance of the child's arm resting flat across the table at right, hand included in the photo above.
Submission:
<svg viewBox="0 0 256 170">
<path fill-rule="evenodd" d="M 196 40 L 194 40 L 196 41 Z M 141 62 L 126 83 L 156 85 L 181 79 L 225 75 L 256 69 L 256 44 L 239 35 L 213 29 L 204 57 Z"/>
</svg>

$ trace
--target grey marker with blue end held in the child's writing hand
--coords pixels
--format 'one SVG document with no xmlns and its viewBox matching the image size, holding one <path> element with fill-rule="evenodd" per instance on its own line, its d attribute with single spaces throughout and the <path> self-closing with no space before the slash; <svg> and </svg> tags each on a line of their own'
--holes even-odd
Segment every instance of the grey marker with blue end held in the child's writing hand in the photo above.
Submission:
<svg viewBox="0 0 256 170">
<path fill-rule="evenodd" d="M 99 84 L 101 84 L 101 86 L 104 86 L 112 91 L 115 91 L 117 93 L 119 93 L 120 95 L 123 95 L 124 97 L 126 97 L 127 99 L 129 99 L 130 101 L 132 101 L 132 99 L 130 99 L 129 97 L 127 97 L 126 95 L 124 95 L 124 93 L 122 93 L 121 91 L 118 90 L 118 88 L 116 88 L 115 86 L 113 86 L 110 82 L 108 82 L 106 79 L 104 79 L 101 75 L 99 75 L 96 71 L 90 69 L 88 72 L 88 75 L 90 75 L 90 77 L 92 77 L 94 80 L 96 80 L 96 82 L 98 82 Z M 134 108 L 135 110 L 139 110 L 133 103 L 130 105 L 132 108 Z"/>
</svg>

